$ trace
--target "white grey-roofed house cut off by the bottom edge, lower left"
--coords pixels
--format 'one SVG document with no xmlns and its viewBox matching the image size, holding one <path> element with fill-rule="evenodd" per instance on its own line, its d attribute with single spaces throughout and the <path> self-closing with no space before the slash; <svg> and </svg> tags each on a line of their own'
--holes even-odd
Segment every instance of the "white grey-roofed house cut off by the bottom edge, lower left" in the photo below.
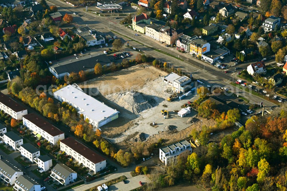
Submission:
<svg viewBox="0 0 287 191">
<path fill-rule="evenodd" d="M 41 191 L 41 185 L 29 176 L 20 175 L 13 186 L 15 190 L 20 191 Z"/>
</svg>

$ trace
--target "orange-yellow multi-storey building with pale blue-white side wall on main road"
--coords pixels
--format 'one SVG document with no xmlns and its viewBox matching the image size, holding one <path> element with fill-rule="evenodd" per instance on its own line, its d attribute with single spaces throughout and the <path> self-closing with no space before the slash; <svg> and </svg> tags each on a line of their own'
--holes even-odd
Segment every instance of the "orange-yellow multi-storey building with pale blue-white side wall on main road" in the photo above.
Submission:
<svg viewBox="0 0 287 191">
<path fill-rule="evenodd" d="M 191 40 L 189 54 L 195 54 L 197 57 L 210 51 L 210 44 L 201 39 L 194 38 Z"/>
</svg>

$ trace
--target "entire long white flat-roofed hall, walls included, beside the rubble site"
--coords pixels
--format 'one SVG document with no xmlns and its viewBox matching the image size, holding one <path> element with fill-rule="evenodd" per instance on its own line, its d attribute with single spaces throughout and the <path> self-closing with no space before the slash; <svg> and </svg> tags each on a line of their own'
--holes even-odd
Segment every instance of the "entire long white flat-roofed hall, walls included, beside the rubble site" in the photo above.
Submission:
<svg viewBox="0 0 287 191">
<path fill-rule="evenodd" d="M 86 94 L 77 84 L 67 85 L 54 92 L 54 98 L 73 106 L 84 120 L 99 128 L 118 118 L 119 112 Z"/>
</svg>

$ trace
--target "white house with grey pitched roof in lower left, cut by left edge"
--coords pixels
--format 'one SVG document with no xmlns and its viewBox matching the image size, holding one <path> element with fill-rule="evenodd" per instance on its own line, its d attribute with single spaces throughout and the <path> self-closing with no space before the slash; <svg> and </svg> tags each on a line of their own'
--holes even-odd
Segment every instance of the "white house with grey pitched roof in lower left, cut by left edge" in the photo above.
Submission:
<svg viewBox="0 0 287 191">
<path fill-rule="evenodd" d="M 3 160 L 0 160 L 0 178 L 5 184 L 13 185 L 16 179 L 23 175 L 23 172 L 13 165 L 7 165 Z"/>
</svg>

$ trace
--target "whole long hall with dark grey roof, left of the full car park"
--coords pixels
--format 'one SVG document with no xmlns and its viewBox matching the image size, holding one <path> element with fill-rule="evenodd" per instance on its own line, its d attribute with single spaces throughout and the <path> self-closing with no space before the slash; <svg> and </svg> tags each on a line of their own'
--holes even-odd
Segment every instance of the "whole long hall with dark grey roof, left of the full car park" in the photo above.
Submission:
<svg viewBox="0 0 287 191">
<path fill-rule="evenodd" d="M 102 67 L 108 67 L 112 64 L 106 54 L 83 54 L 75 56 L 71 59 L 55 62 L 49 66 L 49 71 L 57 78 L 61 79 L 65 75 L 69 76 L 70 73 L 79 71 L 93 72 L 96 63 L 100 63 Z"/>
</svg>

